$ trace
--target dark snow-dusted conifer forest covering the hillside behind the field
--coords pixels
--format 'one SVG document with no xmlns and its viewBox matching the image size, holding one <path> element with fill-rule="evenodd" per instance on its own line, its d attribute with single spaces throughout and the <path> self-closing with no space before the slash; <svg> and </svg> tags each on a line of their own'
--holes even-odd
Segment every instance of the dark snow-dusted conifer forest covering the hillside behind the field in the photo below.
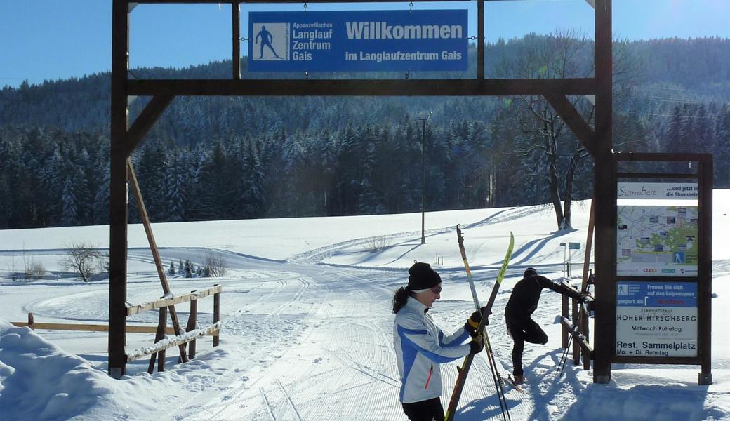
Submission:
<svg viewBox="0 0 730 421">
<path fill-rule="evenodd" d="M 590 77 L 592 55 L 576 34 L 529 35 L 488 45 L 486 73 Z M 614 150 L 713 152 L 715 188 L 730 188 L 730 39 L 615 42 L 614 55 Z M 230 74 L 222 61 L 130 77 Z M 572 101 L 590 120 L 591 102 Z M 108 223 L 109 104 L 109 73 L 0 90 L 0 228 Z M 592 191 L 590 155 L 538 97 L 183 97 L 132 158 L 153 222 L 415 212 L 422 184 L 427 211 Z"/>
</svg>

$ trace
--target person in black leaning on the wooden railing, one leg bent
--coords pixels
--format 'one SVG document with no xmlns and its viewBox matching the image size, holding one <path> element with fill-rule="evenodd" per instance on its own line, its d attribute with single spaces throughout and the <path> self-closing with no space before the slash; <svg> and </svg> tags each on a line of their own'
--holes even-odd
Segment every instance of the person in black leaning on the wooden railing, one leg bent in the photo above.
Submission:
<svg viewBox="0 0 730 421">
<path fill-rule="evenodd" d="M 524 382 L 525 376 L 522 370 L 522 352 L 525 348 L 525 341 L 531 344 L 546 344 L 548 335 L 542 328 L 532 320 L 531 315 L 537 309 L 537 301 L 543 288 L 550 288 L 557 293 L 572 298 L 583 299 L 583 294 L 578 293 L 570 287 L 556 284 L 546 277 L 541 277 L 533 268 L 527 268 L 523 279 L 515 284 L 512 289 L 510 301 L 507 301 L 507 309 L 504 317 L 507 320 L 507 333 L 515 341 L 512 347 L 512 374 L 515 376 L 515 383 Z"/>
</svg>

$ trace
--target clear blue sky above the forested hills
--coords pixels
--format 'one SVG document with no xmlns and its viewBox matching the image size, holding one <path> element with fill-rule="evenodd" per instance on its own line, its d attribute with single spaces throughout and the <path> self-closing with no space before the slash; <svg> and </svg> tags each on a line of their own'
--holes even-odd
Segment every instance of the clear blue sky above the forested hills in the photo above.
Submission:
<svg viewBox="0 0 730 421">
<path fill-rule="evenodd" d="M 303 10 L 302 4 L 244 5 L 247 12 Z M 307 10 L 405 9 L 399 4 L 309 4 Z M 474 1 L 418 3 L 415 9 L 469 9 Z M 111 63 L 111 0 L 0 0 L 0 86 L 23 80 L 81 77 Z M 678 36 L 730 38 L 730 0 L 613 0 L 613 32 L 621 39 Z M 488 1 L 488 40 L 574 28 L 593 36 L 593 9 L 585 0 Z M 227 4 L 140 4 L 131 13 L 130 65 L 187 67 L 231 58 L 231 9 Z M 242 52 L 247 50 L 243 43 Z"/>
</svg>

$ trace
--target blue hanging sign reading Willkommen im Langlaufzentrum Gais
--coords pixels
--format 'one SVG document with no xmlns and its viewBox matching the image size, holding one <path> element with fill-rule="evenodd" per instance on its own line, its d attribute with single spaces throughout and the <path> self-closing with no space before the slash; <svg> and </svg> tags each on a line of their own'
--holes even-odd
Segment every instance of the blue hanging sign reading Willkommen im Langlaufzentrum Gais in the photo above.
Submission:
<svg viewBox="0 0 730 421">
<path fill-rule="evenodd" d="M 466 70 L 468 11 L 250 12 L 250 72 Z"/>
</svg>

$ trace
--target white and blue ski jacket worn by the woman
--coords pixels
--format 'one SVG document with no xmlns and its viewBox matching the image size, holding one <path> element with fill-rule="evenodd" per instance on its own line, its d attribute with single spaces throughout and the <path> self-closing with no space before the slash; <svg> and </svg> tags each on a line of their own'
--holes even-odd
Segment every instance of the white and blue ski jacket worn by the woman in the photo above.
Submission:
<svg viewBox="0 0 730 421">
<path fill-rule="evenodd" d="M 441 396 L 440 363 L 469 355 L 469 344 L 462 345 L 469 333 L 464 327 L 444 336 L 425 305 L 413 297 L 396 314 L 393 343 L 401 374 L 402 403 L 426 401 Z"/>
</svg>

